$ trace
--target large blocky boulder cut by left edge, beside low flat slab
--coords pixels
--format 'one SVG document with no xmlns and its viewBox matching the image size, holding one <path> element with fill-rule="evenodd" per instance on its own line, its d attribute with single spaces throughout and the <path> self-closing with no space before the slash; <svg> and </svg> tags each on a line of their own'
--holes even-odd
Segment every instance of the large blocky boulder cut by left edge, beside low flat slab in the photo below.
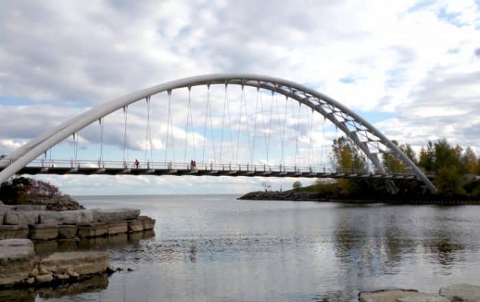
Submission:
<svg viewBox="0 0 480 302">
<path fill-rule="evenodd" d="M 36 255 L 31 240 L 0 240 L 0 286 L 27 279 L 35 264 Z"/>
</svg>

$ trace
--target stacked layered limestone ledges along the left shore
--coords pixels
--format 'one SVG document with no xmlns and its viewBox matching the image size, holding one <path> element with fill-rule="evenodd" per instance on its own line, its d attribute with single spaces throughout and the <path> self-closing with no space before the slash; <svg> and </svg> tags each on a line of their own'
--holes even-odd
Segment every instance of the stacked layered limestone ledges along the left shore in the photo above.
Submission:
<svg viewBox="0 0 480 302">
<path fill-rule="evenodd" d="M 86 210 L 69 198 L 39 203 L 3 205 L 0 201 L 0 289 L 65 284 L 112 273 L 108 251 L 53 251 L 47 255 L 36 251 L 42 246 L 58 247 L 52 242 L 125 241 L 133 234 L 153 232 L 156 223 L 136 209 Z M 75 210 L 49 210 L 52 208 Z"/>
</svg>

